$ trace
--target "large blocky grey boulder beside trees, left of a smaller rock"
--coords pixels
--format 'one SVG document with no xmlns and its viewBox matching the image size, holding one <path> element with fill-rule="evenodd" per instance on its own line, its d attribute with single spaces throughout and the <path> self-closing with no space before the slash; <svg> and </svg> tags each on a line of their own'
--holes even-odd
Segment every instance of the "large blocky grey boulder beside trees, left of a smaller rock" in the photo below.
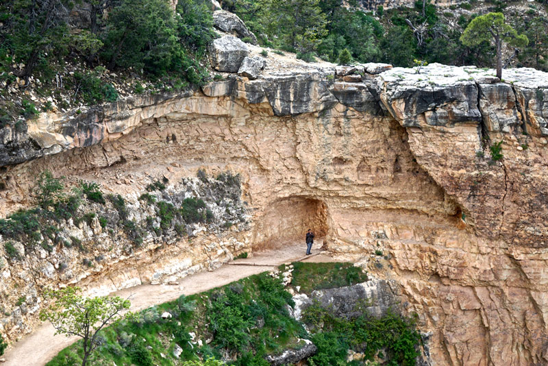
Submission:
<svg viewBox="0 0 548 366">
<path fill-rule="evenodd" d="M 249 53 L 247 45 L 234 36 L 223 36 L 210 45 L 212 66 L 217 71 L 237 73 Z"/>
</svg>

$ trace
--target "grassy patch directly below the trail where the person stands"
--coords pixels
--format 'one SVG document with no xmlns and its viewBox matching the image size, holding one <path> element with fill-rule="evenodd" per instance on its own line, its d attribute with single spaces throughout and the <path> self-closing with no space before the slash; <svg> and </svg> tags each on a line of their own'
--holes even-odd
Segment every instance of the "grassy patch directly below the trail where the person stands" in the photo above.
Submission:
<svg viewBox="0 0 548 366">
<path fill-rule="evenodd" d="M 312 290 L 350 286 L 367 280 L 366 274 L 350 263 L 293 263 L 292 286 L 301 286 L 301 293 Z"/>
</svg>

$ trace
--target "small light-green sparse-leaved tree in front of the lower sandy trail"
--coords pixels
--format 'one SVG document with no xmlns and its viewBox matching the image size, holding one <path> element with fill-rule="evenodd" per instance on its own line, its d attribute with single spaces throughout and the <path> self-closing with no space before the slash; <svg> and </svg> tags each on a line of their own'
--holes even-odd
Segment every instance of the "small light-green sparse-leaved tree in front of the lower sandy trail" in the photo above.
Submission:
<svg viewBox="0 0 548 366">
<path fill-rule="evenodd" d="M 121 319 L 121 312 L 129 309 L 129 300 L 121 297 L 84 297 L 77 287 L 66 287 L 59 291 L 47 291 L 55 302 L 40 311 L 40 320 L 51 321 L 55 334 L 83 339 L 84 356 L 82 366 L 97 348 L 97 333 L 105 326 Z M 126 315 L 127 316 L 127 315 Z"/>
</svg>

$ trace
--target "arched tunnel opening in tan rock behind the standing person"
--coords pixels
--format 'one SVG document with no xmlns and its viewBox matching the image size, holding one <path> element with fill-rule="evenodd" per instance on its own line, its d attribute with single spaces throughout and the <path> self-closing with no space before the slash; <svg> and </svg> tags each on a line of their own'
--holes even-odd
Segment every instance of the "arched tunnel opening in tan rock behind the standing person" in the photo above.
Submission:
<svg viewBox="0 0 548 366">
<path fill-rule="evenodd" d="M 264 210 L 256 227 L 253 250 L 277 249 L 295 243 L 304 243 L 308 229 L 320 242 L 327 234 L 327 205 L 309 197 L 277 199 Z"/>
</svg>

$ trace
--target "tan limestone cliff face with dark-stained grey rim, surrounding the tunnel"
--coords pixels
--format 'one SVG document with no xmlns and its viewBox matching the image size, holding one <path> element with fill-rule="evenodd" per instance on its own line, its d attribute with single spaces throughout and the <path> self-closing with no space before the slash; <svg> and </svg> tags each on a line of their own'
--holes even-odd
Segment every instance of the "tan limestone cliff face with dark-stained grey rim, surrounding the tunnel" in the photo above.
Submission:
<svg viewBox="0 0 548 366">
<path fill-rule="evenodd" d="M 150 177 L 239 173 L 249 226 L 199 242 L 241 243 L 219 263 L 301 240 L 312 226 L 329 251 L 399 283 L 403 308 L 432 332 L 435 365 L 546 365 L 548 75 L 516 69 L 501 83 L 493 71 L 438 64 L 419 74 L 282 61 L 267 59 L 257 80 L 229 75 L 182 95 L 44 115 L 26 134 L 4 131 L 1 209 L 29 205 L 42 169 L 126 196 Z M 499 141 L 503 158 L 491 161 Z M 160 258 L 212 260 L 188 241 L 173 245 L 121 258 L 84 284 L 127 286 L 127 263 L 149 266 L 147 282 L 166 266 Z M 39 263 L 34 256 L 25 260 Z M 23 271 L 8 269 L 13 278 Z M 5 301 L 16 309 L 16 297 Z"/>
</svg>

